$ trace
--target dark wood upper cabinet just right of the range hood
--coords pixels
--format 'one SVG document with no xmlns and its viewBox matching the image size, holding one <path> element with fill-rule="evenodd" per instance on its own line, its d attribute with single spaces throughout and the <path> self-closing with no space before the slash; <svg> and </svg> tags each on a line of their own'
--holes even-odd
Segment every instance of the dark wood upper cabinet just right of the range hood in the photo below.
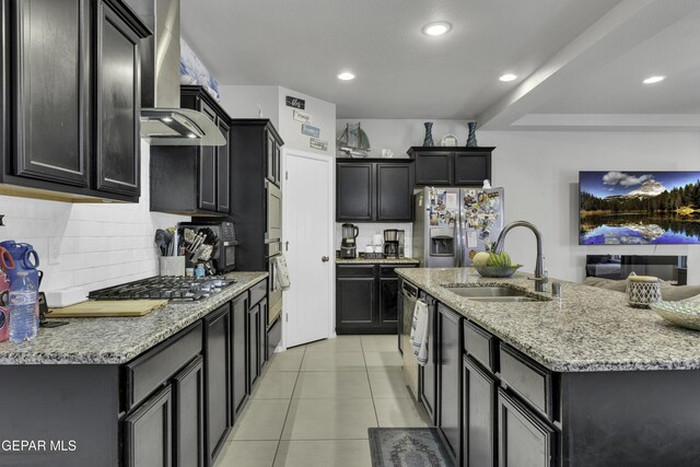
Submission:
<svg viewBox="0 0 700 467">
<path fill-rule="evenodd" d="M 180 106 L 209 116 L 226 143 L 152 147 L 151 211 L 223 217 L 231 211 L 231 117 L 198 85 L 180 86 Z"/>
</svg>

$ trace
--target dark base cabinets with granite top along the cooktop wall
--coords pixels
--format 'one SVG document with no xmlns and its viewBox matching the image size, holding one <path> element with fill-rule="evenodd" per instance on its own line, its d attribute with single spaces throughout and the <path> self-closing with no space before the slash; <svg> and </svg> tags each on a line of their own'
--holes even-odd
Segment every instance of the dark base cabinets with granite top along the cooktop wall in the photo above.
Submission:
<svg viewBox="0 0 700 467">
<path fill-rule="evenodd" d="M 0 343 L 0 465 L 209 465 L 267 357 L 267 276 Z"/>
</svg>

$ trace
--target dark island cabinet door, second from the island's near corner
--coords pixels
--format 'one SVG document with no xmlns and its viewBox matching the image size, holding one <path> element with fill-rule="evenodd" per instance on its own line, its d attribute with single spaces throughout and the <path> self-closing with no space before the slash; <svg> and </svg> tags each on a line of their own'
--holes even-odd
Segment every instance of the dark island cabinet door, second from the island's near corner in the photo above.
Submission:
<svg viewBox="0 0 700 467">
<path fill-rule="evenodd" d="M 495 466 L 495 380 L 468 357 L 462 387 L 464 467 Z"/>
</svg>

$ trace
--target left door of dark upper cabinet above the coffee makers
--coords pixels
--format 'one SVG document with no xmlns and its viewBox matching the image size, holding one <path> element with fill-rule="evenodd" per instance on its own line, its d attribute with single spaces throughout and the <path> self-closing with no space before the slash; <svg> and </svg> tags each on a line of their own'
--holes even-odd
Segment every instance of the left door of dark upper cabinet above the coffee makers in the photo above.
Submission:
<svg viewBox="0 0 700 467">
<path fill-rule="evenodd" d="M 374 219 L 374 175 L 372 163 L 336 164 L 336 220 Z"/>
</svg>

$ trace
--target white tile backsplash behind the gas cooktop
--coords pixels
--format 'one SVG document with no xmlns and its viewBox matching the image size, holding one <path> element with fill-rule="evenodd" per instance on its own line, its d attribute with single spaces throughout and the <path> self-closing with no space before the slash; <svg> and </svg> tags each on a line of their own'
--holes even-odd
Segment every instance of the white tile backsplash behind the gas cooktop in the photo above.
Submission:
<svg viewBox="0 0 700 467">
<path fill-rule="evenodd" d="M 78 288 L 86 295 L 91 290 L 158 275 L 155 230 L 189 218 L 150 212 L 149 154 L 149 145 L 142 142 L 138 203 L 71 205 L 0 196 L 0 214 L 5 214 L 7 225 L 0 227 L 0 240 L 34 246 L 44 271 L 40 290 L 74 294 Z"/>
</svg>

